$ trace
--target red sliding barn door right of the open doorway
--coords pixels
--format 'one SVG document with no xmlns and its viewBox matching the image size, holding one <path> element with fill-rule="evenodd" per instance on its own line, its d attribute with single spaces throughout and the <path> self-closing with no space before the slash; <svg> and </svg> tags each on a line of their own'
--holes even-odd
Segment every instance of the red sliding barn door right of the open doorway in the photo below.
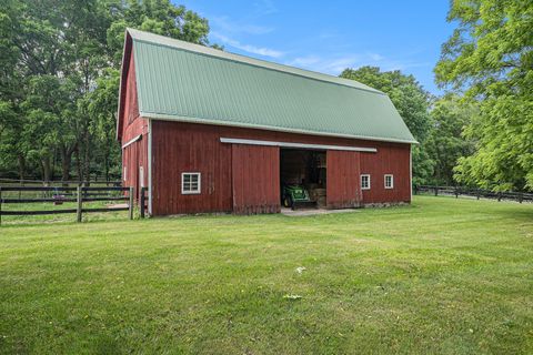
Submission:
<svg viewBox="0 0 533 355">
<path fill-rule="evenodd" d="M 349 151 L 328 151 L 328 209 L 349 209 L 360 205 L 362 196 L 359 183 L 361 174 L 360 154 Z"/>
</svg>

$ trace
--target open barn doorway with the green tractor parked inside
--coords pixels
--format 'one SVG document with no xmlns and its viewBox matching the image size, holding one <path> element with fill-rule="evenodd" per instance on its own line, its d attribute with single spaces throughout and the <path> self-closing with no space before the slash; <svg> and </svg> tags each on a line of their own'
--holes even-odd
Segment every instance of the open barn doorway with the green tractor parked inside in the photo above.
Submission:
<svg viewBox="0 0 533 355">
<path fill-rule="evenodd" d="M 283 207 L 326 205 L 325 151 L 281 149 L 280 192 Z"/>
</svg>

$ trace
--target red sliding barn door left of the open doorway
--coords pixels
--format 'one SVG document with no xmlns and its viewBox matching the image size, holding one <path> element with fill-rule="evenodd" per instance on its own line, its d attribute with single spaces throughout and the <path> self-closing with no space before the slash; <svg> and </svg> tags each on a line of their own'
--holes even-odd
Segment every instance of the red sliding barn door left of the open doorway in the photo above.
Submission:
<svg viewBox="0 0 533 355">
<path fill-rule="evenodd" d="M 233 144 L 233 213 L 280 212 L 280 149 Z"/>
</svg>

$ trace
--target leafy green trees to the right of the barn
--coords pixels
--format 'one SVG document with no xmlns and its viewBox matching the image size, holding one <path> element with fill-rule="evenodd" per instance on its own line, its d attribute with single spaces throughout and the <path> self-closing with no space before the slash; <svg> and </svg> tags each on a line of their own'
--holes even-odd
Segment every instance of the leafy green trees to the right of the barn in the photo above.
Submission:
<svg viewBox="0 0 533 355">
<path fill-rule="evenodd" d="M 532 1 L 451 1 L 457 26 L 434 68 L 441 98 L 400 71 L 342 72 L 391 98 L 420 143 L 415 184 L 533 191 L 532 19 Z"/>
</svg>

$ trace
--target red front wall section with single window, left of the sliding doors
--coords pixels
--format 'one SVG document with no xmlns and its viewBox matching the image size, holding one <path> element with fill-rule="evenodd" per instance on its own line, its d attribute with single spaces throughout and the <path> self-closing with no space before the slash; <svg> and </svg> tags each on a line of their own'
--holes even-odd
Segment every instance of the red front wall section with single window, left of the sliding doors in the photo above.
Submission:
<svg viewBox="0 0 533 355">
<path fill-rule="evenodd" d="M 207 125 L 152 123 L 152 214 L 230 212 L 231 145 Z M 201 173 L 201 193 L 181 194 L 181 173 Z"/>
</svg>

